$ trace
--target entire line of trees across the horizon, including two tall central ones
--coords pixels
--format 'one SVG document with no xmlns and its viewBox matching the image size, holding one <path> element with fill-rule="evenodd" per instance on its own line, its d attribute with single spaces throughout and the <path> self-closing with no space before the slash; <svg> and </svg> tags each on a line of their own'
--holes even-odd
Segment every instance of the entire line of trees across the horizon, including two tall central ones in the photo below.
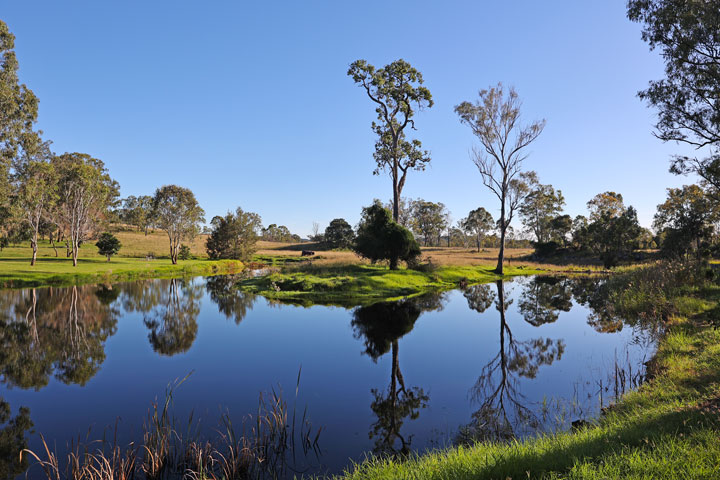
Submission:
<svg viewBox="0 0 720 480">
<path fill-rule="evenodd" d="M 651 48 L 660 49 L 666 62 L 666 78 L 650 82 L 639 93 L 660 112 L 656 136 L 709 150 L 706 157 L 673 157 L 673 173 L 696 174 L 701 181 L 668 189 L 667 199 L 658 205 L 654 232 L 640 227 L 635 209 L 626 206 L 616 192 L 590 199 L 588 216 L 564 214 L 562 192 L 540 183 L 536 172 L 524 168 L 527 147 L 542 134 L 546 122 L 523 122 L 518 93 L 500 83 L 480 90 L 475 100 L 455 106 L 459 122 L 477 139 L 471 160 L 483 186 L 496 197 L 499 215 L 494 217 L 493 209 L 478 207 L 453 225 L 441 202 L 403 197 L 408 173 L 425 170 L 432 160 L 412 134 L 417 131 L 417 113 L 432 108 L 434 102 L 422 74 L 399 59 L 381 68 L 357 60 L 347 71 L 375 108 L 376 118 L 371 123 L 376 134 L 373 174 L 389 175 L 391 201 L 385 205 L 374 201 L 365 207 L 355 228 L 342 218 L 330 222 L 323 233 L 313 224 L 311 239 L 332 248 L 358 251 L 361 234 L 375 232 L 383 237 L 370 243 L 385 252 L 377 258 L 393 266 L 407 252 L 419 251 L 419 242 L 466 248 L 473 244 L 477 250 L 493 246 L 499 249 L 498 273 L 503 272 L 506 244 L 529 246 L 531 242 L 538 258 L 589 252 L 606 267 L 631 260 L 635 250 L 646 248 L 658 248 L 667 258 L 699 260 L 715 254 L 720 221 L 720 81 L 718 58 L 712 50 L 715 43 L 708 37 L 717 16 L 712 3 L 628 2 L 628 17 L 643 24 L 643 39 Z M 65 243 L 67 255 L 77 264 L 80 245 L 115 221 L 146 234 L 155 228 L 165 231 L 170 258 L 176 263 L 182 242 L 200 233 L 205 222 L 192 191 L 166 185 L 153 196 L 120 201 L 119 186 L 101 160 L 83 153 L 52 153 L 50 142 L 33 129 L 38 100 L 18 81 L 13 46 L 13 35 L 0 21 L 0 247 L 13 239 L 29 240 L 34 264 L 38 237 L 47 235 L 53 246 Z M 387 209 L 389 219 L 378 208 Z M 522 223 L 523 233 L 511 227 L 515 219 Z M 373 222 L 377 222 L 375 229 L 370 228 Z M 258 239 L 301 240 L 283 225 L 263 227 L 259 215 L 241 208 L 213 218 L 204 233 L 208 234 L 211 258 L 247 259 Z M 388 253 L 396 250 L 405 253 L 400 257 Z"/>
</svg>

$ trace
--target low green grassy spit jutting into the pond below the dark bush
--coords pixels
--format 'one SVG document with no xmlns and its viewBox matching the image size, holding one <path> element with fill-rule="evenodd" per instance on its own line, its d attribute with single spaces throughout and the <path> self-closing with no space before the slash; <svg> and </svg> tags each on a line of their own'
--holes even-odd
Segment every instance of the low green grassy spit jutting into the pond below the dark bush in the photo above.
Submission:
<svg viewBox="0 0 720 480">
<path fill-rule="evenodd" d="M 505 277 L 536 273 L 522 266 L 505 269 Z M 238 287 L 286 303 L 355 306 L 450 290 L 461 281 L 487 283 L 500 278 L 493 267 L 444 266 L 418 271 L 362 264 L 306 265 L 243 280 Z"/>
</svg>

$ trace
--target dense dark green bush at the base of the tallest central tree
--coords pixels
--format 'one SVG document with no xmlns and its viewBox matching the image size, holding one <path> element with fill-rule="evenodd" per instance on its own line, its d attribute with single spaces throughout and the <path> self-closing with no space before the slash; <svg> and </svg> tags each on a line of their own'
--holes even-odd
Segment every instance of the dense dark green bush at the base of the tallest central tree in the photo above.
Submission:
<svg viewBox="0 0 720 480">
<path fill-rule="evenodd" d="M 353 249 L 372 262 L 389 261 L 391 270 L 396 270 L 400 261 L 412 263 L 420 255 L 412 233 L 394 222 L 379 202 L 363 208 Z"/>
</svg>

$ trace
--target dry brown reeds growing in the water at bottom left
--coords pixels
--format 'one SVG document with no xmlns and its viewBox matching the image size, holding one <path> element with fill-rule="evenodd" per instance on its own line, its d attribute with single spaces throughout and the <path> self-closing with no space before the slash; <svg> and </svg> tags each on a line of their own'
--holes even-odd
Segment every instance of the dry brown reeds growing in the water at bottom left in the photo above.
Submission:
<svg viewBox="0 0 720 480">
<path fill-rule="evenodd" d="M 292 409 L 281 390 L 260 393 L 257 413 L 246 416 L 239 429 L 224 413 L 211 439 L 200 437 L 192 414 L 182 431 L 172 413 L 174 391 L 188 377 L 168 386 L 162 403 L 151 403 L 140 444 L 118 445 L 116 424 L 112 441 L 73 441 L 61 461 L 41 435 L 43 451 L 21 453 L 35 460 L 28 474 L 47 480 L 282 478 L 319 457 L 322 428 L 313 428 L 307 408 L 297 415 L 300 372 Z"/>
</svg>

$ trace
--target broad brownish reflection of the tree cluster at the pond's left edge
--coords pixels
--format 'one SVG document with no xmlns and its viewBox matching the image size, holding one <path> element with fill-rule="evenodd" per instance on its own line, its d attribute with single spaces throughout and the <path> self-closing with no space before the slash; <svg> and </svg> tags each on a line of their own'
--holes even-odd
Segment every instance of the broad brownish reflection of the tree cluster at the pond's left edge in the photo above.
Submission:
<svg viewBox="0 0 720 480">
<path fill-rule="evenodd" d="M 8 385 L 39 389 L 50 375 L 84 385 L 105 360 L 117 311 L 92 286 L 0 292 L 0 373 Z"/>
</svg>

